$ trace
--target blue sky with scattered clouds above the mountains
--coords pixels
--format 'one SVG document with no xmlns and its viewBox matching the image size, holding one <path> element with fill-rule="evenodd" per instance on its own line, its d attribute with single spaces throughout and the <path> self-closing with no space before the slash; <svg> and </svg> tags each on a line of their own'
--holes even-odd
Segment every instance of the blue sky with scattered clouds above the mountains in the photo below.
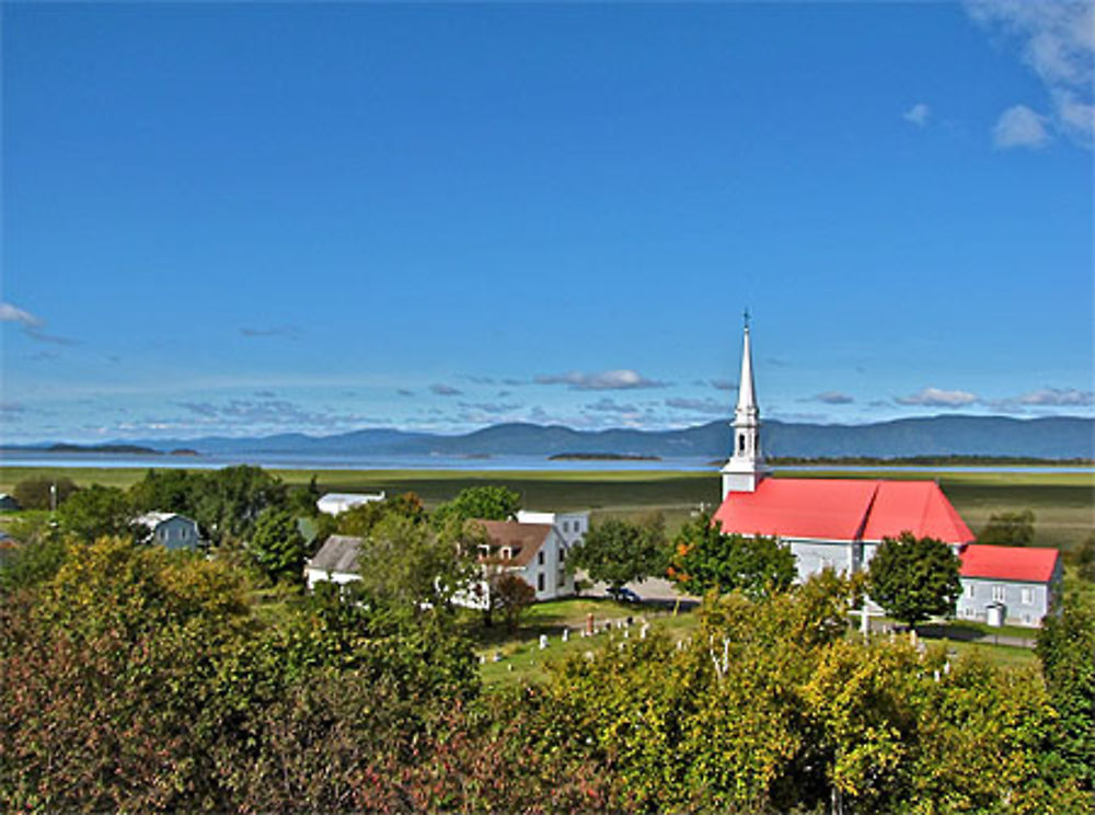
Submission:
<svg viewBox="0 0 1095 815">
<path fill-rule="evenodd" d="M 1091 3 L 2 23 L 5 443 L 1093 415 Z"/>
</svg>

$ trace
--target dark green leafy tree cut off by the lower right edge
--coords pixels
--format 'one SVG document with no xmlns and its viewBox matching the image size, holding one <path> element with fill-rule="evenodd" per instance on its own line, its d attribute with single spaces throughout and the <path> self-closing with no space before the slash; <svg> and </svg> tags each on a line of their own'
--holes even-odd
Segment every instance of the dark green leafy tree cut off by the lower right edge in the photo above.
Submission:
<svg viewBox="0 0 1095 815">
<path fill-rule="evenodd" d="M 1095 790 L 1095 598 L 1069 592 L 1048 615 L 1036 652 L 1058 713 L 1058 745 L 1088 791 Z"/>
</svg>

